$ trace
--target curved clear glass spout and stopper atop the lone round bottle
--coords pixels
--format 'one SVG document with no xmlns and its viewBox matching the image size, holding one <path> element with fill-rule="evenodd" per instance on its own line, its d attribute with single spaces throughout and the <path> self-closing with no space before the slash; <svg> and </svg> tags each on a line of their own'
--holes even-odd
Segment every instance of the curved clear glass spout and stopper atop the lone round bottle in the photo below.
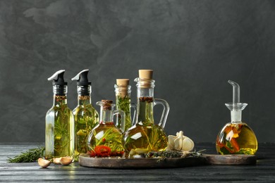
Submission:
<svg viewBox="0 0 275 183">
<path fill-rule="evenodd" d="M 226 103 L 226 107 L 231 111 L 231 122 L 241 122 L 242 111 L 247 106 L 247 103 L 240 103 L 239 84 L 231 80 L 228 80 L 228 83 L 233 86 L 233 102 Z"/>
</svg>

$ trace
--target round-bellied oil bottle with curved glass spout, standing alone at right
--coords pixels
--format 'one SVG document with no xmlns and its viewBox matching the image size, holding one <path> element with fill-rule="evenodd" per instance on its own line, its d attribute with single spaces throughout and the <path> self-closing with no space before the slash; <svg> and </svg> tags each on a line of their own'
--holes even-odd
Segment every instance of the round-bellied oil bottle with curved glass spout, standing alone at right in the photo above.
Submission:
<svg viewBox="0 0 275 183">
<path fill-rule="evenodd" d="M 239 85 L 231 80 L 228 83 L 233 86 L 233 103 L 226 103 L 226 107 L 231 111 L 231 122 L 228 122 L 216 137 L 216 151 L 219 154 L 255 154 L 255 133 L 241 121 L 242 111 L 247 103 L 240 103 Z"/>
</svg>

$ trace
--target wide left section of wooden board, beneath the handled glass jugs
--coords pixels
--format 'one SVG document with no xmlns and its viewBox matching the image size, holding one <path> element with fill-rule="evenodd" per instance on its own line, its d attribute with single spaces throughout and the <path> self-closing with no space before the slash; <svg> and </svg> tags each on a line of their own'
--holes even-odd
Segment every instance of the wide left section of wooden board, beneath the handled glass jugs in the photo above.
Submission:
<svg viewBox="0 0 275 183">
<path fill-rule="evenodd" d="M 92 168 L 139 169 L 139 168 L 181 168 L 204 165 L 203 157 L 188 158 L 90 158 L 79 156 L 79 164 Z"/>
</svg>

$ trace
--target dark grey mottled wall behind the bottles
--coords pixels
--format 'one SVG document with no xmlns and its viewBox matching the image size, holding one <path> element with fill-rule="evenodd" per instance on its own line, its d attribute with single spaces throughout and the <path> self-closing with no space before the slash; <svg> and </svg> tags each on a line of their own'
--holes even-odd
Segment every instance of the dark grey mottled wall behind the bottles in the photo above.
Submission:
<svg viewBox="0 0 275 183">
<path fill-rule="evenodd" d="M 86 68 L 94 106 L 115 99 L 116 78 L 130 79 L 136 101 L 138 69 L 153 69 L 155 97 L 171 107 L 167 134 L 195 142 L 215 141 L 230 120 L 236 81 L 243 121 L 274 142 L 274 28 L 275 1 L 1 0 L 0 142 L 44 141 L 47 78 L 66 70 L 73 109 L 71 78 Z"/>
</svg>

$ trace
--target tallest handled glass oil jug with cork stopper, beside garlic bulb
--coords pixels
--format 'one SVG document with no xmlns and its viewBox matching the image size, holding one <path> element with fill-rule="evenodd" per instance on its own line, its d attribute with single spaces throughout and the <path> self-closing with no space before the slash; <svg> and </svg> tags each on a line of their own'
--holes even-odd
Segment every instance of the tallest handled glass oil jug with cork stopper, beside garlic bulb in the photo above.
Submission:
<svg viewBox="0 0 275 183">
<path fill-rule="evenodd" d="M 167 146 L 167 136 L 164 132 L 169 105 L 163 99 L 154 99 L 153 70 L 139 70 L 135 79 L 137 86 L 137 115 L 135 125 L 123 134 L 123 146 L 126 153 L 135 156 L 148 151 L 164 151 Z M 164 111 L 159 124 L 154 123 L 154 105 L 161 104 Z"/>
</svg>

